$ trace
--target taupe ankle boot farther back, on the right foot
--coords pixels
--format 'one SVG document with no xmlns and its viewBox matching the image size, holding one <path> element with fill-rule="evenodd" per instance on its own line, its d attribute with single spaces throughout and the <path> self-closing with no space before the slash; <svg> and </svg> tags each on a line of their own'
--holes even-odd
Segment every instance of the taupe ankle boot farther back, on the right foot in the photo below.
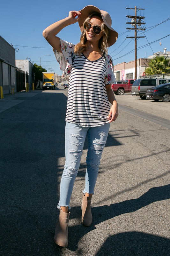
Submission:
<svg viewBox="0 0 170 256">
<path fill-rule="evenodd" d="M 92 211 L 90 208 L 92 196 L 85 196 L 83 194 L 83 200 L 81 204 L 81 222 L 85 226 L 90 226 L 92 224 Z"/>
</svg>

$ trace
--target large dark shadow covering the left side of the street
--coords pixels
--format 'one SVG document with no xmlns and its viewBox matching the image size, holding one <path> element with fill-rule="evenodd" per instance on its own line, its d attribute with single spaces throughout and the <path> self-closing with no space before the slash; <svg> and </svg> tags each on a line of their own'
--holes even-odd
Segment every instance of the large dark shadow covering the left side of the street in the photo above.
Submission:
<svg viewBox="0 0 170 256">
<path fill-rule="evenodd" d="M 59 251 L 56 167 L 64 156 L 66 104 L 63 93 L 37 93 L 0 114 L 1 255 Z"/>
</svg>

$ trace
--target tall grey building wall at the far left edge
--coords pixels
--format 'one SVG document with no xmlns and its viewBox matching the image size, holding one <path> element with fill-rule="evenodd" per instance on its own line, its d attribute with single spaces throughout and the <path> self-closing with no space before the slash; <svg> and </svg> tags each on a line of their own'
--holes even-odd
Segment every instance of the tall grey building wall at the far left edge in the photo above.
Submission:
<svg viewBox="0 0 170 256">
<path fill-rule="evenodd" d="M 16 92 L 15 49 L 0 36 L 0 86 L 3 93 Z"/>
</svg>

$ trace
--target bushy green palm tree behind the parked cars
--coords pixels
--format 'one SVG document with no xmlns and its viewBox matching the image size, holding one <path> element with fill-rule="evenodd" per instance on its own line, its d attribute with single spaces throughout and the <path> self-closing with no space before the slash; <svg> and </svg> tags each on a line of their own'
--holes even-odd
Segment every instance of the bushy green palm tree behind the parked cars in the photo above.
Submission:
<svg viewBox="0 0 170 256">
<path fill-rule="evenodd" d="M 156 75 L 156 74 L 164 74 L 169 73 L 170 64 L 169 58 L 164 56 L 156 56 L 151 59 L 149 62 L 149 67 L 146 68 L 146 75 Z"/>
</svg>

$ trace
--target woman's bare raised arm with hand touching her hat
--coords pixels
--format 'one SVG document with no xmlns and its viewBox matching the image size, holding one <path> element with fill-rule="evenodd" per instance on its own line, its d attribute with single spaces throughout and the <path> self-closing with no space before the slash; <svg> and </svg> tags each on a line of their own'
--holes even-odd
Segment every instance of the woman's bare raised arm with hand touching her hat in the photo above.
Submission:
<svg viewBox="0 0 170 256">
<path fill-rule="evenodd" d="M 43 30 L 42 35 L 45 37 L 48 43 L 58 52 L 62 51 L 60 39 L 56 35 L 66 26 L 76 23 L 80 15 L 81 13 L 78 11 L 70 11 L 69 16 L 67 18 L 59 20 Z"/>
</svg>

